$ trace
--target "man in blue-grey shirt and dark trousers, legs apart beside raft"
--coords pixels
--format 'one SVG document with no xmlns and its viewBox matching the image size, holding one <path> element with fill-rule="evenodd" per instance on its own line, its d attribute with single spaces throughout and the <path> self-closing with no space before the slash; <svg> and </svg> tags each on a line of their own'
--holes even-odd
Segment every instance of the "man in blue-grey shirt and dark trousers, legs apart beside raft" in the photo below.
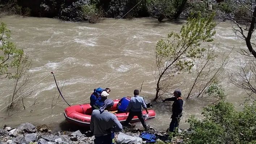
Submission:
<svg viewBox="0 0 256 144">
<path fill-rule="evenodd" d="M 128 123 L 133 119 L 134 116 L 137 116 L 138 119 L 140 119 L 140 122 L 142 123 L 142 126 L 145 128 L 145 130 L 149 130 L 150 126 L 147 126 L 143 115 L 142 115 L 142 107 L 146 110 L 147 114 L 148 109 L 147 106 L 145 104 L 145 101 L 143 99 L 143 97 L 140 97 L 139 94 L 139 90 L 134 90 L 133 92 L 134 97 L 131 98 L 127 108 L 126 108 L 126 114 L 129 112 L 128 118 L 126 119 L 126 121 L 124 122 L 124 126 L 127 126 Z"/>
</svg>

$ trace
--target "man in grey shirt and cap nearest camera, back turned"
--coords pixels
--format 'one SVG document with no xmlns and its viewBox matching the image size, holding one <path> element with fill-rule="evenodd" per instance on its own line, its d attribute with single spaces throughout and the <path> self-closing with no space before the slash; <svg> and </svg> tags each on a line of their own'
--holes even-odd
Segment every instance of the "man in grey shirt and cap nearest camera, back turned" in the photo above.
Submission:
<svg viewBox="0 0 256 144">
<path fill-rule="evenodd" d="M 112 132 L 123 130 L 123 126 L 116 116 L 109 112 L 113 105 L 114 101 L 107 99 L 99 110 L 95 109 L 91 114 L 90 129 L 95 136 L 95 144 L 111 144 Z"/>
</svg>

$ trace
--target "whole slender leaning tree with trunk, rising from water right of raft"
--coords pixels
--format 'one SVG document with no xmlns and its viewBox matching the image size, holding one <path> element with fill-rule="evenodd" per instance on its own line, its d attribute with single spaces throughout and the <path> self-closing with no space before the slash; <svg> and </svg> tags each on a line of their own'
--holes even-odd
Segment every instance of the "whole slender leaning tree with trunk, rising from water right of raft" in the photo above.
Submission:
<svg viewBox="0 0 256 144">
<path fill-rule="evenodd" d="M 155 100 L 179 83 L 176 75 L 190 73 L 195 59 L 203 56 L 206 49 L 200 47 L 201 44 L 212 42 L 212 36 L 216 34 L 213 18 L 214 13 L 209 17 L 202 17 L 200 13 L 198 17 L 189 17 L 179 33 L 171 32 L 166 41 L 158 41 L 155 48 Z"/>
</svg>

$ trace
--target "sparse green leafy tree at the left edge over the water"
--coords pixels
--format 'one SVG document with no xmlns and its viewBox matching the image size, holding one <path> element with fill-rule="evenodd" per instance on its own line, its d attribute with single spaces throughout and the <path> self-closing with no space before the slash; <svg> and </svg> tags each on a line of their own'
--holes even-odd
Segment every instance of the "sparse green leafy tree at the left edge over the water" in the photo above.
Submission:
<svg viewBox="0 0 256 144">
<path fill-rule="evenodd" d="M 5 23 L 0 25 L 0 80 L 10 79 L 14 81 L 13 91 L 7 100 L 8 110 L 17 108 L 22 102 L 24 105 L 24 97 L 31 94 L 30 92 L 24 94 L 25 87 L 29 82 L 30 75 L 27 74 L 31 68 L 31 61 L 29 56 L 24 53 L 22 49 L 18 49 L 13 42 L 10 42 L 10 30 Z M 17 110 L 17 109 L 16 109 Z M 13 111 L 9 111 L 12 113 Z"/>
</svg>

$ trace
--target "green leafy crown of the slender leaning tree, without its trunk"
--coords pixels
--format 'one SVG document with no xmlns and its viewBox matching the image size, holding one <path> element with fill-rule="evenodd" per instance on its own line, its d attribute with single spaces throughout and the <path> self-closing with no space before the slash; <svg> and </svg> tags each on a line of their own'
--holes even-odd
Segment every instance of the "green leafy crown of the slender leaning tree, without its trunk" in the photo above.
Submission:
<svg viewBox="0 0 256 144">
<path fill-rule="evenodd" d="M 158 62 L 164 64 L 168 61 L 177 66 L 178 71 L 190 71 L 193 60 L 203 56 L 206 51 L 200 47 L 202 42 L 212 42 L 212 36 L 216 34 L 213 30 L 216 26 L 216 23 L 212 22 L 213 17 L 214 14 L 209 17 L 202 17 L 201 14 L 196 18 L 190 17 L 180 33 L 171 32 L 166 41 L 159 40 L 155 49 Z"/>
</svg>

